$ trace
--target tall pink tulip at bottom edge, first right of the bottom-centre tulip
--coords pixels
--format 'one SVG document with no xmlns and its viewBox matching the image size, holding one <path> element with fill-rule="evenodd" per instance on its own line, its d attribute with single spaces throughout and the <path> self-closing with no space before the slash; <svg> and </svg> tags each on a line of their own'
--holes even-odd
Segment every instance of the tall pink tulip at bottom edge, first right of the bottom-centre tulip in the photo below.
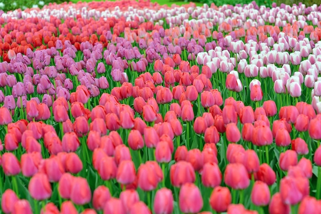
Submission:
<svg viewBox="0 0 321 214">
<path fill-rule="evenodd" d="M 203 198 L 193 183 L 186 183 L 179 191 L 179 208 L 184 213 L 197 213 L 203 207 Z"/>
</svg>

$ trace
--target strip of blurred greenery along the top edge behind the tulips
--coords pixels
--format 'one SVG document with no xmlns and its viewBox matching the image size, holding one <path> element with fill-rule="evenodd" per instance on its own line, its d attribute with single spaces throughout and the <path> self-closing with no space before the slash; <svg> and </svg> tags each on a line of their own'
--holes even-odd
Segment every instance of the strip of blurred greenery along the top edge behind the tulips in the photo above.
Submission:
<svg viewBox="0 0 321 214">
<path fill-rule="evenodd" d="M 79 0 L 0 0 L 0 10 L 3 11 L 10 11 L 15 9 L 22 9 L 25 10 L 26 8 L 33 8 L 38 7 L 42 8 L 44 5 L 48 5 L 49 3 L 56 3 L 61 4 L 63 2 L 73 2 L 77 3 Z M 91 2 L 93 0 L 82 0 L 83 2 Z M 102 1 L 102 0 L 96 0 Z M 244 5 L 249 4 L 253 0 L 193 0 L 197 6 L 202 6 L 204 3 L 211 5 L 214 3 L 216 6 L 222 6 L 224 4 L 229 5 Z M 151 2 L 157 2 L 160 5 L 168 5 L 171 6 L 172 4 L 182 5 L 190 2 L 189 0 L 151 0 Z M 300 2 L 304 2 L 306 6 L 311 6 L 313 4 L 320 5 L 321 0 L 256 0 L 255 1 L 258 6 L 265 5 L 266 7 L 272 7 L 272 4 L 275 2 L 278 6 L 282 3 L 286 5 L 292 6 L 293 4 L 299 4 Z"/>
</svg>

